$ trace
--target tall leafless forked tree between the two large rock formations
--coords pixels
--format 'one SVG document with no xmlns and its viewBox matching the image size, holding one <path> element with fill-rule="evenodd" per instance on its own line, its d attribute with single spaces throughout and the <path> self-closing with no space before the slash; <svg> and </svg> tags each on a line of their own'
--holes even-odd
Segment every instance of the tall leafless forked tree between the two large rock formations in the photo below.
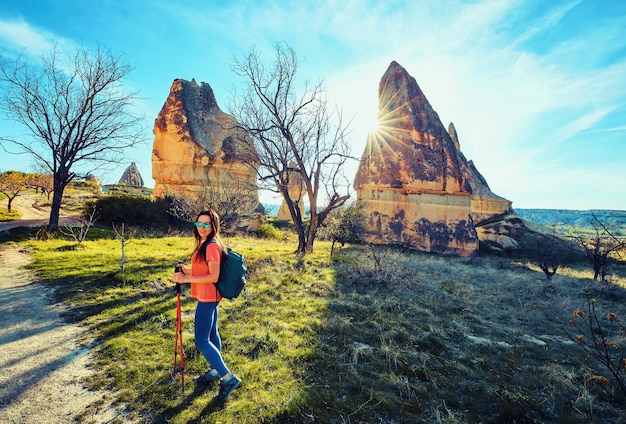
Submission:
<svg viewBox="0 0 626 424">
<path fill-rule="evenodd" d="M 350 182 L 342 173 L 350 154 L 347 126 L 341 113 L 329 111 L 321 82 L 306 83 L 297 92 L 295 52 L 284 43 L 276 44 L 275 50 L 267 68 L 256 48 L 241 60 L 235 58 L 233 70 L 247 80 L 247 87 L 241 97 L 233 94 L 231 113 L 255 147 L 244 160 L 258 165 L 259 187 L 282 195 L 298 234 L 297 251 L 310 253 L 318 227 L 350 197 Z M 298 207 L 300 199 L 289 193 L 294 173 L 305 187 L 308 222 Z"/>
</svg>

